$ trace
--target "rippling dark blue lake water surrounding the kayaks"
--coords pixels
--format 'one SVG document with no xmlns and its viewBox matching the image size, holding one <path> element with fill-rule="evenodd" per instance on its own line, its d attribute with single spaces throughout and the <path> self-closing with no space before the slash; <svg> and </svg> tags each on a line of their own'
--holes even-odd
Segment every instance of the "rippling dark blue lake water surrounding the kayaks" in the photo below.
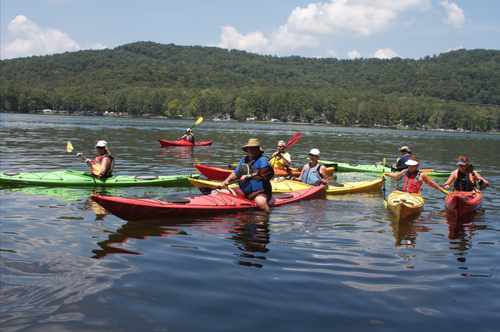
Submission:
<svg viewBox="0 0 500 332">
<path fill-rule="evenodd" d="M 194 163 L 238 161 L 249 138 L 266 155 L 394 163 L 408 145 L 422 168 L 467 155 L 491 186 L 483 208 L 448 220 L 444 195 L 395 222 L 381 191 L 326 196 L 234 215 L 127 222 L 103 214 L 101 189 L 1 188 L 2 331 L 498 331 L 500 136 L 312 125 L 213 122 L 194 128 L 211 147 L 161 148 L 195 120 L 1 115 L 1 170 L 87 170 L 108 141 L 116 174 L 189 174 Z M 376 178 L 339 173 L 337 181 Z M 436 179 L 442 184 L 445 179 Z M 387 182 L 388 193 L 395 189 Z M 193 187 L 125 188 L 112 195 L 179 197 Z"/>
</svg>

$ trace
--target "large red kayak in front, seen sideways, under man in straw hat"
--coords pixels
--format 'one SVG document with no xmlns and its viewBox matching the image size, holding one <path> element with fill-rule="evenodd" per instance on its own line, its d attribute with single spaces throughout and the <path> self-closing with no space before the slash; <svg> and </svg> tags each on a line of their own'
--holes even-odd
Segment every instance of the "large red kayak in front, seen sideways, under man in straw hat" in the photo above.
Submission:
<svg viewBox="0 0 500 332">
<path fill-rule="evenodd" d="M 269 201 L 269 206 L 280 206 L 320 196 L 323 194 L 323 190 L 324 186 L 318 186 L 286 194 L 274 194 Z M 254 201 L 230 194 L 164 199 L 110 197 L 92 194 L 90 198 L 115 216 L 128 221 L 233 213 L 257 207 Z"/>
</svg>

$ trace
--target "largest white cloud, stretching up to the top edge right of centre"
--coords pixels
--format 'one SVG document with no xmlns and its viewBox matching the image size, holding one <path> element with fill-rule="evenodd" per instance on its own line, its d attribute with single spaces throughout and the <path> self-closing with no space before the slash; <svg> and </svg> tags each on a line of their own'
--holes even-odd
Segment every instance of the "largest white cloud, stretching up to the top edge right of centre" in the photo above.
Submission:
<svg viewBox="0 0 500 332">
<path fill-rule="evenodd" d="M 286 24 L 268 37 L 260 31 L 246 35 L 232 26 L 221 27 L 222 48 L 268 54 L 289 54 L 314 48 L 340 37 L 370 37 L 397 25 L 399 13 L 428 10 L 431 0 L 331 0 L 296 7 Z"/>
</svg>

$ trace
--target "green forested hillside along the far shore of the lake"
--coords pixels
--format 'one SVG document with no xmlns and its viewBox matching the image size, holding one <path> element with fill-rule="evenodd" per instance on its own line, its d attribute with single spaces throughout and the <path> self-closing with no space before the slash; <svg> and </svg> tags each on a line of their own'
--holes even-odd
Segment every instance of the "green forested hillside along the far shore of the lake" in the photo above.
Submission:
<svg viewBox="0 0 500 332">
<path fill-rule="evenodd" d="M 500 51 L 316 59 L 138 42 L 1 62 L 0 108 L 499 126 Z M 489 105 L 489 106 L 480 106 Z"/>
</svg>

